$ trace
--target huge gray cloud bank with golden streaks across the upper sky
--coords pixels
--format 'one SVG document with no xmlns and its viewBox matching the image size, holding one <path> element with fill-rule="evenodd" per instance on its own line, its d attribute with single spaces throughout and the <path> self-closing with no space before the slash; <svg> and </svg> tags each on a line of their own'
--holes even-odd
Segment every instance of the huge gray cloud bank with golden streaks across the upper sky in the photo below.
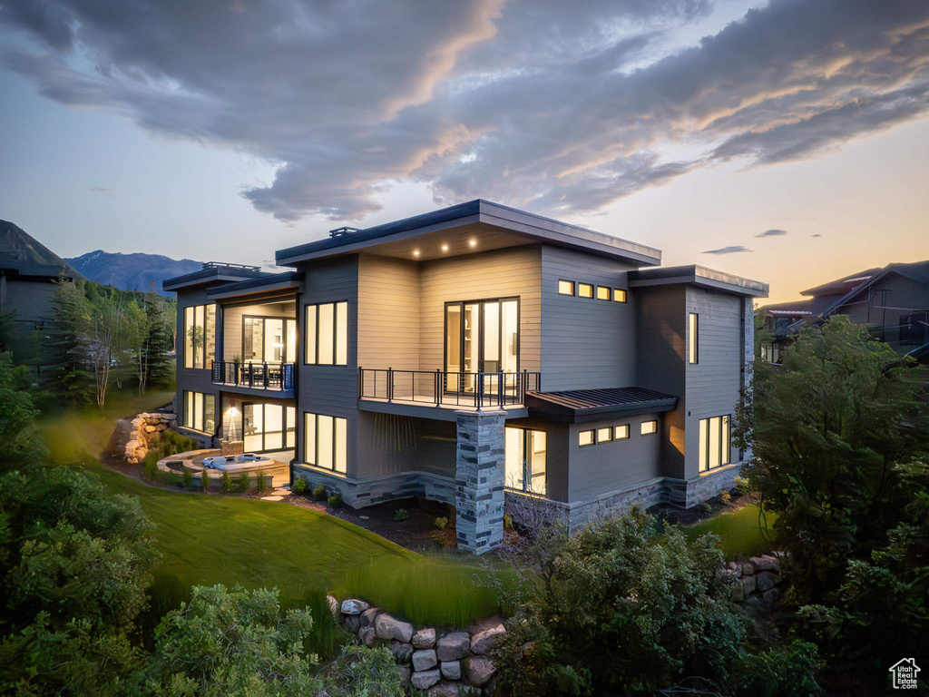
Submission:
<svg viewBox="0 0 929 697">
<path fill-rule="evenodd" d="M 929 112 L 929 3 L 708 0 L 0 6 L 50 99 L 275 164 L 283 221 L 357 219 L 396 182 L 561 216 L 729 161 L 802 160 Z M 685 37 L 682 39 L 681 37 Z M 685 46 L 685 47 L 682 47 Z"/>
</svg>

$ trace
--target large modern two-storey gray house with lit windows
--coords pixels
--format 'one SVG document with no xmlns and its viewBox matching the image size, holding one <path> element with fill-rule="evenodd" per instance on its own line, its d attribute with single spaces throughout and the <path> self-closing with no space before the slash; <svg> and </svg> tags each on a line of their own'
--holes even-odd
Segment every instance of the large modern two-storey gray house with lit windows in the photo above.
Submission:
<svg viewBox="0 0 929 697">
<path fill-rule="evenodd" d="M 244 441 L 349 506 L 456 506 L 459 545 L 506 505 L 577 525 L 693 506 L 745 454 L 732 414 L 767 285 L 486 201 L 220 264 L 177 292 L 180 423 Z"/>
</svg>

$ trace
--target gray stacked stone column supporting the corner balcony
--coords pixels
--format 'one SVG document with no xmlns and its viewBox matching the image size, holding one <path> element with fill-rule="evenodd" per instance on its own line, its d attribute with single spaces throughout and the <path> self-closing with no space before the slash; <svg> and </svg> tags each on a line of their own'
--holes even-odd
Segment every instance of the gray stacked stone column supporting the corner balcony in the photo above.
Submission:
<svg viewBox="0 0 929 697">
<path fill-rule="evenodd" d="M 504 412 L 455 412 L 458 548 L 483 554 L 504 541 Z"/>
</svg>

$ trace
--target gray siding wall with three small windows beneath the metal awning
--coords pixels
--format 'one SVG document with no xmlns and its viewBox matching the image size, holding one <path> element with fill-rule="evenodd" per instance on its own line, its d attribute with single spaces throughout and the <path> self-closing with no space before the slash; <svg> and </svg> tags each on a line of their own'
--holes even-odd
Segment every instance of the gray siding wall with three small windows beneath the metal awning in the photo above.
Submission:
<svg viewBox="0 0 929 697">
<path fill-rule="evenodd" d="M 643 421 L 658 421 L 657 433 L 643 436 Z M 581 431 L 629 424 L 629 438 L 581 447 Z M 589 424 L 570 424 L 568 501 L 583 501 L 661 477 L 661 414 L 642 414 Z"/>
</svg>

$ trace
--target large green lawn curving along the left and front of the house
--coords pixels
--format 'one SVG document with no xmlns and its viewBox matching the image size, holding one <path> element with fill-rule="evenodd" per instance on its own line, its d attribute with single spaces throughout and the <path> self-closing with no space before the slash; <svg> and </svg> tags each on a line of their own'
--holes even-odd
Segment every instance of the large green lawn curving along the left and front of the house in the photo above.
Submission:
<svg viewBox="0 0 929 697">
<path fill-rule="evenodd" d="M 137 496 L 155 524 L 162 559 L 152 612 L 186 598 L 192 585 L 277 587 L 286 605 L 319 604 L 323 593 L 360 596 L 416 624 L 464 625 L 496 611 L 481 571 L 460 559 L 424 557 L 342 519 L 287 504 L 147 486 L 100 465 L 118 415 L 164 403 L 122 398 L 46 421 L 53 459 L 78 462 L 114 491 Z"/>
</svg>

